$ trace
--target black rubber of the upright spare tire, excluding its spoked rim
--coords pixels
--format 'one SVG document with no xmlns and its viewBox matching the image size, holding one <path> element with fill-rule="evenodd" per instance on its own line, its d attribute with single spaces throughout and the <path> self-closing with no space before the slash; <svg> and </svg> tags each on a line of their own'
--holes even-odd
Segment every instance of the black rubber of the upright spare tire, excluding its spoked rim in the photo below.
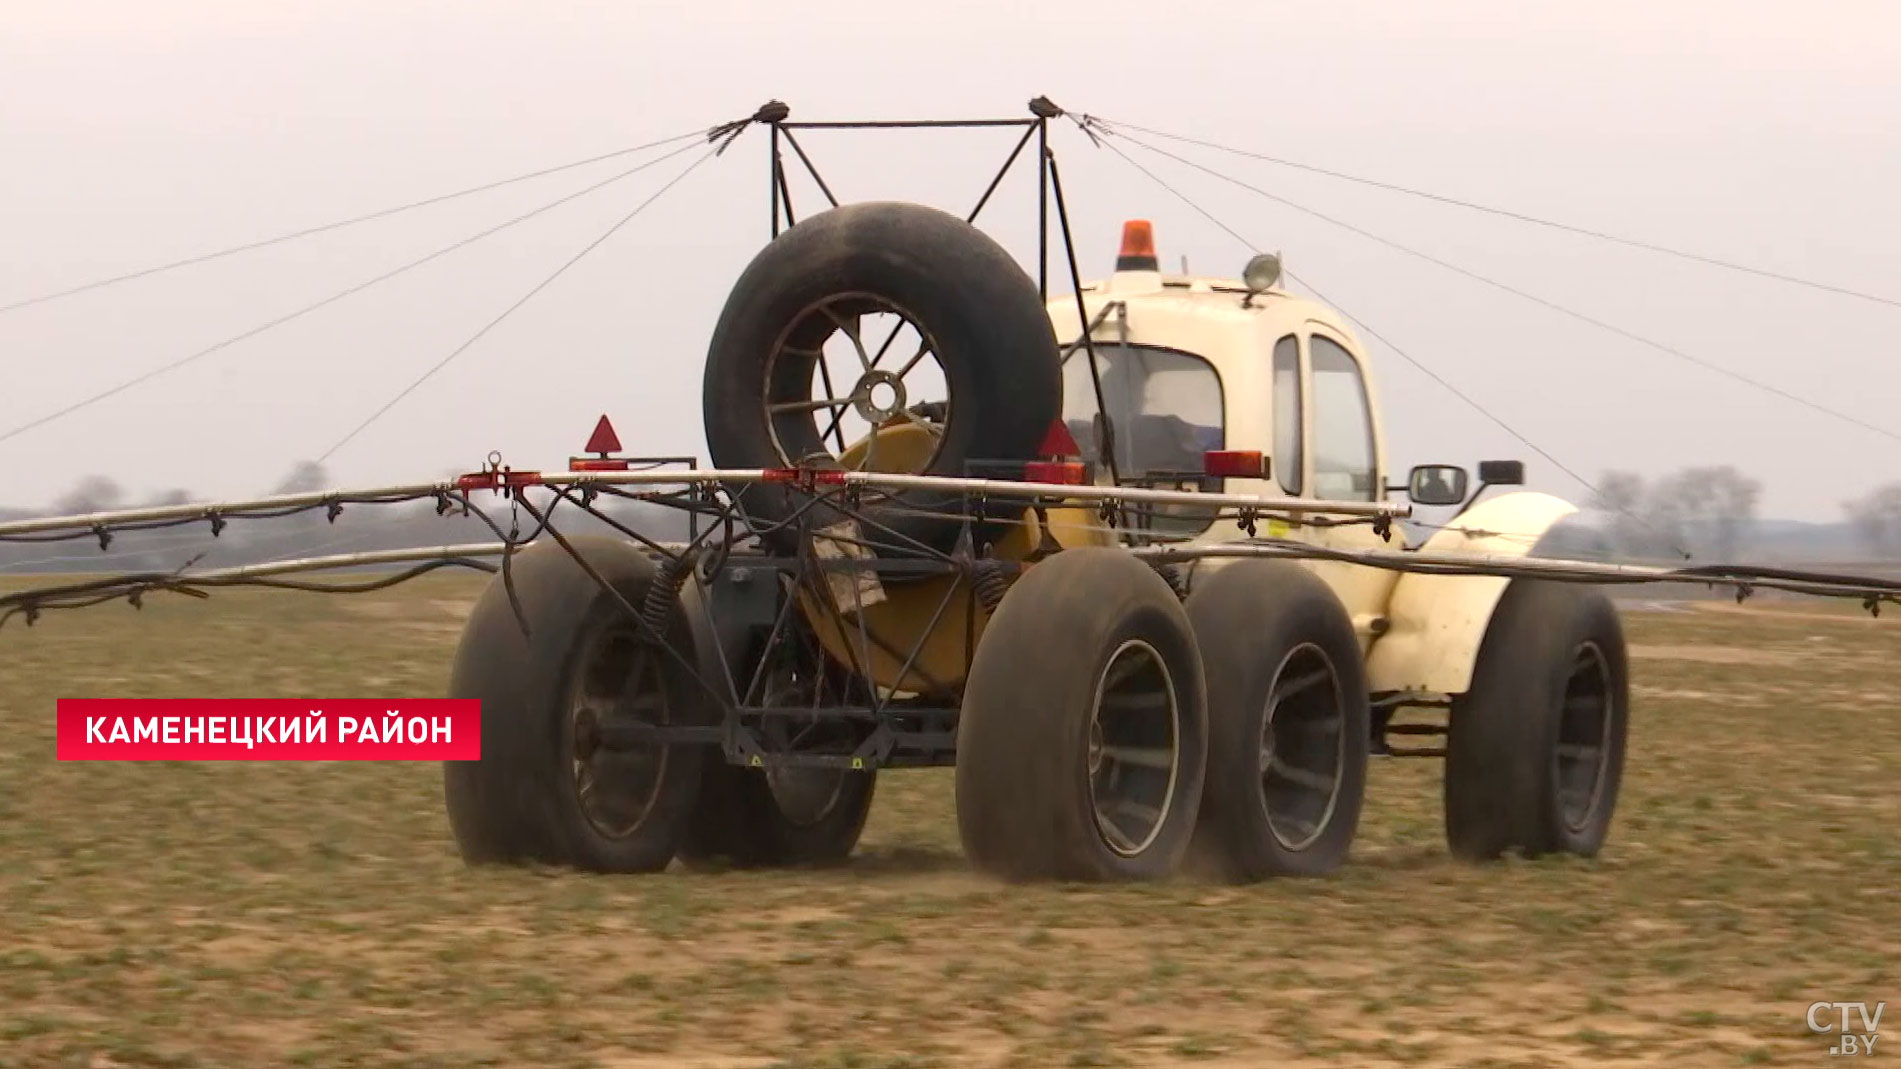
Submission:
<svg viewBox="0 0 1901 1069">
<path fill-rule="evenodd" d="M 762 405 L 766 363 L 800 312 L 844 293 L 873 295 L 907 310 L 937 342 L 954 405 L 928 474 L 966 476 L 968 460 L 1034 457 L 1063 411 L 1055 333 L 1034 282 L 996 242 L 954 215 L 873 202 L 789 228 L 734 283 L 705 365 L 705 434 L 715 466 L 778 468 L 802 460 L 781 457 L 774 445 Z M 808 447 L 821 451 L 816 428 L 810 436 Z M 787 449 L 798 453 L 800 445 L 789 441 Z M 747 512 L 762 521 L 783 521 L 804 500 L 783 487 L 745 491 Z M 912 491 L 897 502 L 865 512 L 924 544 L 950 548 L 958 525 L 914 512 L 962 514 L 960 496 Z M 817 525 L 836 519 L 831 510 L 814 515 Z M 797 544 L 797 533 L 774 540 Z"/>
</svg>

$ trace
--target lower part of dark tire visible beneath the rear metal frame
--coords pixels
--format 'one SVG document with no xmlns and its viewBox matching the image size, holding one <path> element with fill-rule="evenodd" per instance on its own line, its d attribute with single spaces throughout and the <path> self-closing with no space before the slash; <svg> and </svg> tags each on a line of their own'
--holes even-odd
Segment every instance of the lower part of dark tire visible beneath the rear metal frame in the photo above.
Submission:
<svg viewBox="0 0 1901 1069">
<path fill-rule="evenodd" d="M 719 761 L 713 755 L 711 761 Z M 819 867 L 852 856 L 876 772 L 709 763 L 681 843 L 692 865 Z"/>
</svg>

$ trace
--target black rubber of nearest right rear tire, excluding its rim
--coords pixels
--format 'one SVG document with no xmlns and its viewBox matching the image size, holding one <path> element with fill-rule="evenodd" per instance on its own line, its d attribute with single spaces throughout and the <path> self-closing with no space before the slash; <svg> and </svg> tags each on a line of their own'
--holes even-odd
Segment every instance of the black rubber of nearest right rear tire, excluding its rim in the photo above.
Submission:
<svg viewBox="0 0 1901 1069">
<path fill-rule="evenodd" d="M 1133 858 L 1103 841 L 1087 778 L 1095 687 L 1125 639 L 1163 658 L 1179 709 L 1171 808 Z M 1162 879 L 1194 833 L 1205 761 L 1201 658 L 1167 580 L 1127 552 L 1080 548 L 1011 586 L 977 645 L 958 719 L 958 833 L 979 869 L 1008 881 Z"/>
</svg>

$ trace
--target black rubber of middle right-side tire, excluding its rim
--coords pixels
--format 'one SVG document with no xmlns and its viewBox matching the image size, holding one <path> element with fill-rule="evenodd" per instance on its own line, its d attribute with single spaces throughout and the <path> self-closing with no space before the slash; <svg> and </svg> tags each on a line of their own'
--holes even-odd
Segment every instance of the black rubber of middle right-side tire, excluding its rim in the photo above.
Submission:
<svg viewBox="0 0 1901 1069">
<path fill-rule="evenodd" d="M 1196 578 L 1186 611 L 1207 673 L 1209 721 L 1198 867 L 1230 881 L 1329 873 L 1346 860 L 1367 789 L 1371 711 L 1354 620 L 1319 576 L 1291 561 L 1236 561 Z M 1327 827 L 1287 850 L 1268 826 L 1260 736 L 1276 671 L 1304 643 L 1336 673 L 1344 763 Z"/>
</svg>

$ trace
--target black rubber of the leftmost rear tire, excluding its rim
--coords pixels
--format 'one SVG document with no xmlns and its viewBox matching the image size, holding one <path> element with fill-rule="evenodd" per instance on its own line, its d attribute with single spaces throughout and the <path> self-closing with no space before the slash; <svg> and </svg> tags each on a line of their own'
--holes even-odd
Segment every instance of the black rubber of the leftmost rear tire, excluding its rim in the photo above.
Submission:
<svg viewBox="0 0 1901 1069">
<path fill-rule="evenodd" d="M 568 542 L 622 597 L 643 603 L 654 580 L 654 565 L 644 554 L 614 538 Z M 449 694 L 483 704 L 483 759 L 443 765 L 449 824 L 462 856 L 614 873 L 663 869 L 700 789 L 703 748 L 669 751 L 652 810 L 633 835 L 601 835 L 582 814 L 570 784 L 568 673 L 582 654 L 582 639 L 625 609 L 551 540 L 523 550 L 509 571 L 528 633 L 523 635 L 504 580 L 496 576 L 477 599 L 451 668 Z M 667 641 L 690 656 L 692 635 L 677 611 Z M 673 715 L 682 723 L 703 719 L 698 683 L 671 658 L 667 664 L 663 679 Z"/>
</svg>

